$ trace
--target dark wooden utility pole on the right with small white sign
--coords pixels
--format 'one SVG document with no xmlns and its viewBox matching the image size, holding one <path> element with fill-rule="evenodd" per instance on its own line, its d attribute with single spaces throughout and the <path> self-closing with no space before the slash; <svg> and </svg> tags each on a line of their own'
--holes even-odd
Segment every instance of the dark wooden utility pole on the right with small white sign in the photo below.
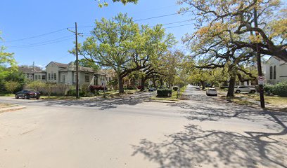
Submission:
<svg viewBox="0 0 287 168">
<path fill-rule="evenodd" d="M 255 27 L 258 27 L 258 20 L 257 20 L 257 10 L 256 6 L 254 7 L 254 23 Z M 256 36 L 258 36 L 258 32 L 255 32 Z M 261 66 L 261 55 L 260 55 L 260 50 L 259 50 L 259 44 L 256 44 L 256 57 L 257 57 L 257 69 L 258 69 L 258 79 L 262 78 L 262 66 Z M 258 83 L 259 86 L 259 94 L 260 94 L 260 105 L 261 108 L 265 108 L 265 102 L 264 102 L 264 90 L 263 90 L 263 83 Z"/>
</svg>

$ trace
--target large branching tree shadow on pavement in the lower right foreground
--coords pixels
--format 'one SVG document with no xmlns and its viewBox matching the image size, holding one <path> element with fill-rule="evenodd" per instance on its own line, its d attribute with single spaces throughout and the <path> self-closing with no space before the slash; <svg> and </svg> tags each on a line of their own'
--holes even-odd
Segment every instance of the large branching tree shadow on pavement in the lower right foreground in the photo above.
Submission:
<svg viewBox="0 0 287 168">
<path fill-rule="evenodd" d="M 286 130 L 278 134 L 286 134 Z M 187 125 L 184 132 L 166 135 L 161 142 L 142 139 L 138 146 L 132 146 L 132 155 L 144 155 L 160 167 L 286 167 L 283 157 L 287 144 L 274 136 L 266 132 L 202 130 Z"/>
</svg>

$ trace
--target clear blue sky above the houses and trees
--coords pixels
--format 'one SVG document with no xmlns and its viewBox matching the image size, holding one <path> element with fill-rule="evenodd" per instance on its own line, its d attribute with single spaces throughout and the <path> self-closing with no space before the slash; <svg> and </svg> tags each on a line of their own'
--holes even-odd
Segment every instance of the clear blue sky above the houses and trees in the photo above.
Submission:
<svg viewBox="0 0 287 168">
<path fill-rule="evenodd" d="M 136 5 L 131 3 L 126 6 L 107 1 L 108 7 L 98 8 L 94 0 L 1 0 L 0 31 L 4 42 L 0 42 L 0 45 L 5 45 L 8 52 L 15 53 L 18 64 L 31 65 L 35 62 L 38 66 L 46 66 L 51 61 L 68 63 L 75 59 L 68 53 L 74 46 L 75 36 L 66 28 L 75 27 L 75 22 L 78 31 L 87 34 L 92 27 L 85 26 L 94 25 L 96 19 L 112 18 L 117 13 L 128 13 L 134 20 L 141 20 L 177 13 L 180 8 L 177 0 L 139 0 Z M 138 23 L 152 26 L 180 22 L 164 27 L 176 36 L 178 47 L 184 48 L 181 37 L 193 32 L 193 25 L 181 21 L 190 19 L 189 15 L 170 15 Z M 177 27 L 179 25 L 186 26 Z M 48 34 L 50 32 L 53 33 Z M 42 34 L 46 35 L 38 36 Z M 79 37 L 79 42 L 84 41 L 84 38 Z"/>
</svg>

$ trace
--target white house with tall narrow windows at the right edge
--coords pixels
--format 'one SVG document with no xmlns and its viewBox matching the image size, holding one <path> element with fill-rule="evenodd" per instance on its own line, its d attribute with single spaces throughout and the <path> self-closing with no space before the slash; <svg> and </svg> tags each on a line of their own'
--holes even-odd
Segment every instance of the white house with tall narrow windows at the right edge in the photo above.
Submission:
<svg viewBox="0 0 287 168">
<path fill-rule="evenodd" d="M 267 83 L 274 85 L 287 80 L 287 62 L 276 57 L 270 57 L 265 65 Z"/>
</svg>

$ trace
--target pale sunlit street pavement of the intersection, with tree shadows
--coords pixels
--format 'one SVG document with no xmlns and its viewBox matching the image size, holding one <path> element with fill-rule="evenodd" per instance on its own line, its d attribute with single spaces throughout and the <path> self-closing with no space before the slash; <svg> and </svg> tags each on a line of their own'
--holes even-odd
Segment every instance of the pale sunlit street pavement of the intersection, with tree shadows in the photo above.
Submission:
<svg viewBox="0 0 287 168">
<path fill-rule="evenodd" d="M 0 102 L 0 167 L 287 167 L 287 114 L 189 85 L 174 104 L 116 99 Z"/>
</svg>

